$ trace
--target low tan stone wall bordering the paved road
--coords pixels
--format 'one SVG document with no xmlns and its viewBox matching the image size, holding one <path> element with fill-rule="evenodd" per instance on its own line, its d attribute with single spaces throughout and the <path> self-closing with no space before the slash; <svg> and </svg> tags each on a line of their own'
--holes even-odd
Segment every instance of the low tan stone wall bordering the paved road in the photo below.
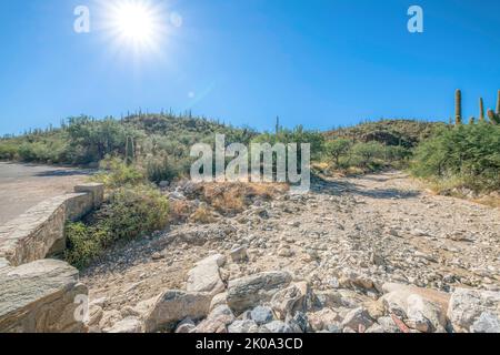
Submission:
<svg viewBox="0 0 500 355">
<path fill-rule="evenodd" d="M 66 248 L 64 225 L 101 205 L 102 184 L 74 187 L 0 226 L 0 333 L 86 332 L 78 270 L 46 258 Z M 82 303 L 83 301 L 83 303 Z"/>
</svg>

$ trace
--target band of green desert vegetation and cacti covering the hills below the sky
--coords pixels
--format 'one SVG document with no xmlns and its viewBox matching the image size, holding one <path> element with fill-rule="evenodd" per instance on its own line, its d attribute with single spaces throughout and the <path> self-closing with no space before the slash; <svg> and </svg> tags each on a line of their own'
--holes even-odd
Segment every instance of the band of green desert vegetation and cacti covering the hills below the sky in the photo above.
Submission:
<svg viewBox="0 0 500 355">
<path fill-rule="evenodd" d="M 461 92 L 456 98 L 454 124 L 380 120 L 328 132 L 302 126 L 283 129 L 279 120 L 274 132 L 259 133 L 190 114 L 134 114 L 122 120 L 79 116 L 68 119 L 60 129 L 1 139 L 0 159 L 100 164 L 114 171 L 112 179 L 108 179 L 111 184 L 160 183 L 187 176 L 193 162 L 189 156 L 191 146 L 196 143 L 213 146 L 216 133 L 221 133 L 226 134 L 226 144 L 310 143 L 313 166 L 322 173 L 359 174 L 411 168 L 416 176 L 430 181 L 438 190 L 499 190 L 500 109 L 498 113 L 488 110 L 484 114 L 480 100 L 480 118 L 466 124 L 461 116 Z M 122 162 L 126 166 L 117 166 Z"/>
</svg>

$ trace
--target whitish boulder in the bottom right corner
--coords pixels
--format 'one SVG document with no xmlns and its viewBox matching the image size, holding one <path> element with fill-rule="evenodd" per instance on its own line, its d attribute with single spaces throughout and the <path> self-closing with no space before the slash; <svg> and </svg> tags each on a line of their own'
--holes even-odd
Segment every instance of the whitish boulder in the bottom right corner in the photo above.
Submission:
<svg viewBox="0 0 500 355">
<path fill-rule="evenodd" d="M 500 292 L 458 288 L 448 317 L 456 332 L 500 333 Z"/>
</svg>

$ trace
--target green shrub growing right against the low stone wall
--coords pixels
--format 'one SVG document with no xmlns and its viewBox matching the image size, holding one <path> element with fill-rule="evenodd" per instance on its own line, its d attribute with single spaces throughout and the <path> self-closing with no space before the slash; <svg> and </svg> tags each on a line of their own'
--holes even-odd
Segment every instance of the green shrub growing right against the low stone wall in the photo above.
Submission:
<svg viewBox="0 0 500 355">
<path fill-rule="evenodd" d="M 81 268 L 118 241 L 130 241 L 166 227 L 169 203 L 150 186 L 120 187 L 87 223 L 69 223 L 66 227 L 66 260 Z"/>
</svg>

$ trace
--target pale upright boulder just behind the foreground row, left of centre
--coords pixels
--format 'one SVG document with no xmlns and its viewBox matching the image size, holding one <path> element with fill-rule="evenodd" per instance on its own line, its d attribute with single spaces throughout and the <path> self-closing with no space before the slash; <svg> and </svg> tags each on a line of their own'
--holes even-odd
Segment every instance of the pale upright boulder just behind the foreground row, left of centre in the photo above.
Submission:
<svg viewBox="0 0 500 355">
<path fill-rule="evenodd" d="M 226 257 L 211 255 L 196 266 L 188 274 L 188 292 L 208 292 L 217 295 L 224 291 L 226 285 L 220 278 L 219 267 L 226 264 Z"/>
</svg>

